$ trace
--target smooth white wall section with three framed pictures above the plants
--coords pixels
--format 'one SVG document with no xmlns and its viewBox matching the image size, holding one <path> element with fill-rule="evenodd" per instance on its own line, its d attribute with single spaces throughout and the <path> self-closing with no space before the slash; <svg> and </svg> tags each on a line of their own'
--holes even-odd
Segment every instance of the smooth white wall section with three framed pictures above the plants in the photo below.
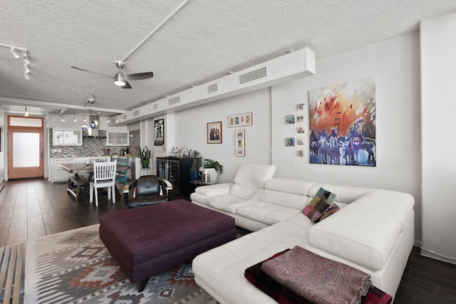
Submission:
<svg viewBox="0 0 456 304">
<path fill-rule="evenodd" d="M 228 116 L 252 112 L 253 125 L 228 127 Z M 207 143 L 207 123 L 222 121 L 222 143 Z M 245 130 L 245 157 L 236 157 L 234 131 Z M 165 129 L 165 134 L 167 130 Z M 243 163 L 271 163 L 271 93 L 269 88 L 175 112 L 175 142 L 167 147 L 197 150 L 223 165 L 219 182 L 232 182 Z"/>
</svg>

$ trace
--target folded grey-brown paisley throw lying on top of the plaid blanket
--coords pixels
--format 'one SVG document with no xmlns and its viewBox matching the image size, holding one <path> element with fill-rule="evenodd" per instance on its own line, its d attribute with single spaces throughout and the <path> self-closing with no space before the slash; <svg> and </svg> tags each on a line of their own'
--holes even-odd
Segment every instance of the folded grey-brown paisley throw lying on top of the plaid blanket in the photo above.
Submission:
<svg viewBox="0 0 456 304">
<path fill-rule="evenodd" d="M 265 261 L 261 270 L 312 303 L 361 303 L 371 281 L 367 273 L 295 246 Z"/>
</svg>

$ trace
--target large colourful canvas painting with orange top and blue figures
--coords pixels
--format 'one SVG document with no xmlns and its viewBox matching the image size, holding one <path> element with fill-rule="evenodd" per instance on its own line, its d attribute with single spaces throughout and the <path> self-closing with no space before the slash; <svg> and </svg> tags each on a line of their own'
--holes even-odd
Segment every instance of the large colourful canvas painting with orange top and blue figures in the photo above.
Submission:
<svg viewBox="0 0 456 304">
<path fill-rule="evenodd" d="M 312 164 L 375 167 L 375 79 L 309 91 Z"/>
</svg>

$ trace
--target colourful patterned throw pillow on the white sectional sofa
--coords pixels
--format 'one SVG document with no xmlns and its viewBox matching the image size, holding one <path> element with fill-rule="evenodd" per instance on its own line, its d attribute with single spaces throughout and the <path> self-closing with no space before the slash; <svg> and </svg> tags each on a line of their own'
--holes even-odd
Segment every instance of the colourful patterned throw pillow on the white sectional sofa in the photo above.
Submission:
<svg viewBox="0 0 456 304">
<path fill-rule="evenodd" d="M 339 207 L 333 203 L 334 199 L 336 199 L 336 194 L 320 188 L 302 213 L 311 219 L 313 223 L 318 223 L 318 221 L 326 219 L 339 210 Z"/>
</svg>

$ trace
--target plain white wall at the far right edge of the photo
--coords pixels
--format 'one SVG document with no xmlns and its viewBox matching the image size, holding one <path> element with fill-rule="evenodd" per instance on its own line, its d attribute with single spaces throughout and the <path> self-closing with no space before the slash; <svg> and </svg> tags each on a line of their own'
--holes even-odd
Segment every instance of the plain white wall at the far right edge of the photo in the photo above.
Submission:
<svg viewBox="0 0 456 304">
<path fill-rule="evenodd" d="M 456 11 L 420 25 L 423 243 L 421 253 L 456 263 Z"/>
</svg>

